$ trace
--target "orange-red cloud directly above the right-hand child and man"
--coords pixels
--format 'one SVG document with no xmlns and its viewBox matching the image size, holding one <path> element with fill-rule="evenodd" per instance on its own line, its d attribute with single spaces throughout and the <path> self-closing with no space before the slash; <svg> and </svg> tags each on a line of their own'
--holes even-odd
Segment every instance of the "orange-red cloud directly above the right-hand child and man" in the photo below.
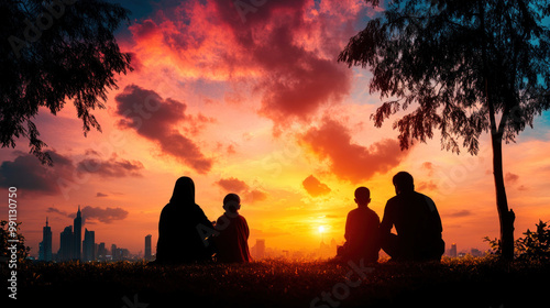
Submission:
<svg viewBox="0 0 550 308">
<path fill-rule="evenodd" d="M 351 183 L 388 172 L 407 154 L 400 151 L 396 140 L 386 139 L 369 147 L 352 143 L 350 130 L 327 118 L 320 128 L 311 128 L 302 134 L 301 142 L 319 158 L 329 160 L 330 169 L 336 176 Z"/>
</svg>

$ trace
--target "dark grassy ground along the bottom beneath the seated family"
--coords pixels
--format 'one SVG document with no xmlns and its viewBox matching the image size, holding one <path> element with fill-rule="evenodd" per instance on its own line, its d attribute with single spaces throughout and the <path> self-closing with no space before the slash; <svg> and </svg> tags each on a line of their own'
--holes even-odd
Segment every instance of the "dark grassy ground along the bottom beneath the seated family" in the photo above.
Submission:
<svg viewBox="0 0 550 308">
<path fill-rule="evenodd" d="M 22 307 L 24 301 L 43 302 L 41 307 L 119 308 L 550 307 L 550 264 L 503 264 L 492 258 L 374 266 L 261 261 L 179 267 L 142 263 L 20 267 L 19 305 L 8 307 Z M 6 284 L 4 264 L 0 272 Z M 2 302 L 9 299 L 6 288 L 4 294 Z"/>
</svg>

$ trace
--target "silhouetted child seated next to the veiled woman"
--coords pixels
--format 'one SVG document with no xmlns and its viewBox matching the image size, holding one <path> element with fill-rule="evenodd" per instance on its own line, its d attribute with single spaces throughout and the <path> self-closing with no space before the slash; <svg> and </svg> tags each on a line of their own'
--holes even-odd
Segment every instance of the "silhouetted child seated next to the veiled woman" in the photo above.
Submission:
<svg viewBox="0 0 550 308">
<path fill-rule="evenodd" d="M 249 251 L 249 224 L 246 219 L 239 215 L 241 198 L 237 194 L 228 194 L 223 198 L 226 212 L 216 221 L 218 233 L 213 237 L 217 248 L 216 257 L 223 263 L 251 262 Z"/>
</svg>

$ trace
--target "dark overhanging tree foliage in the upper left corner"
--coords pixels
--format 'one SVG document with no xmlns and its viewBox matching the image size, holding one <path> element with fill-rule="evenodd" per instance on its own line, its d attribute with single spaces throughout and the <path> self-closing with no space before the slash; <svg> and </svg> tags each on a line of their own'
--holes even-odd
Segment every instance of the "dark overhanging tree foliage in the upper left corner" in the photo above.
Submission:
<svg viewBox="0 0 550 308">
<path fill-rule="evenodd" d="M 84 134 L 101 128 L 90 113 L 105 108 L 114 73 L 125 74 L 130 54 L 113 32 L 129 11 L 102 0 L 3 0 L 0 2 L 0 143 L 26 138 L 31 153 L 52 164 L 33 123 L 40 107 L 56 114 L 72 100 Z"/>
</svg>

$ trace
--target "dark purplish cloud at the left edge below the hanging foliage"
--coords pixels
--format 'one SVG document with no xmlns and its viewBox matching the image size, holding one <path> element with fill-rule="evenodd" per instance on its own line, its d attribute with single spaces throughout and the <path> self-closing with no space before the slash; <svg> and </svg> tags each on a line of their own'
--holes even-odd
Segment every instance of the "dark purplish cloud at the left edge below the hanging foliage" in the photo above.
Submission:
<svg viewBox="0 0 550 308">
<path fill-rule="evenodd" d="M 15 160 L 0 165 L 0 187 L 15 186 L 22 191 L 56 195 L 61 191 L 58 179 L 73 176 L 73 161 L 55 151 L 46 151 L 54 167 L 42 165 L 32 154 L 18 153 Z"/>
</svg>

